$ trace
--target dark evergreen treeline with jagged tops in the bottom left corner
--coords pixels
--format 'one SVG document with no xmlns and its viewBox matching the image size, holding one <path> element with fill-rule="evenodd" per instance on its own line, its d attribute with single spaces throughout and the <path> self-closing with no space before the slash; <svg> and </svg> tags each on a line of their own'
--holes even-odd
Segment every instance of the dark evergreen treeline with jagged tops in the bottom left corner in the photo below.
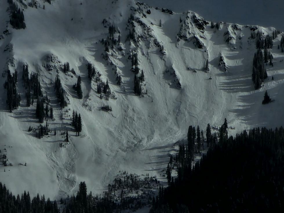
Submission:
<svg viewBox="0 0 284 213">
<path fill-rule="evenodd" d="M 37 194 L 33 199 L 30 198 L 29 192 L 18 194 L 17 197 L 9 192 L 5 184 L 0 183 L 0 212 L 2 213 L 59 213 L 59 212 L 112 212 L 117 205 L 108 196 L 98 197 L 92 196 L 92 192 L 87 194 L 87 186 L 85 182 L 79 185 L 79 191 L 76 196 L 71 196 L 68 199 L 61 199 L 61 204 L 64 208 L 59 209 L 57 201 L 45 200 L 44 195 Z M 128 205 L 127 205 L 128 206 Z"/>
</svg>

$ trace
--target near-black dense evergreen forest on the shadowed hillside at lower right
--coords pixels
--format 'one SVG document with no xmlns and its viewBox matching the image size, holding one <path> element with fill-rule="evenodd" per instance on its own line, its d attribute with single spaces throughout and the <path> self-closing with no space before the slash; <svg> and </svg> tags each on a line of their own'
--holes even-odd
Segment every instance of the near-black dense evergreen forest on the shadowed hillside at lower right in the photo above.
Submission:
<svg viewBox="0 0 284 213">
<path fill-rule="evenodd" d="M 282 127 L 223 137 L 193 167 L 184 152 L 178 177 L 160 189 L 150 213 L 284 212 L 283 140 Z"/>
</svg>

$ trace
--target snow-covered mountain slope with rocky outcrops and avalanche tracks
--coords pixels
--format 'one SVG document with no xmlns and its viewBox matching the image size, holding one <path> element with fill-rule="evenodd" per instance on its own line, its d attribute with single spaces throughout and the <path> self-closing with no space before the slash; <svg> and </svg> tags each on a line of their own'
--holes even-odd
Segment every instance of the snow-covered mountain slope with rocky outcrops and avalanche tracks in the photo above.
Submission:
<svg viewBox="0 0 284 213">
<path fill-rule="evenodd" d="M 17 70 L 22 99 L 10 113 L 6 90 L 1 90 L 0 149 L 2 153 L 6 148 L 13 166 L 5 167 L 5 172 L 0 167 L 0 181 L 14 194 L 29 190 L 32 196 L 39 192 L 54 198 L 75 192 L 80 181 L 100 193 L 119 170 L 159 176 L 172 144 L 185 138 L 189 125 L 205 130 L 207 123 L 220 126 L 227 118 L 228 125 L 235 127 L 229 134 L 282 125 L 283 53 L 277 49 L 281 34 L 270 50 L 274 66 L 266 66 L 268 79 L 263 87 L 254 90 L 251 80 L 256 52 L 255 40 L 249 38 L 251 29 L 272 34 L 274 28 L 221 23 L 220 30 L 215 30 L 194 12 L 156 10 L 131 0 L 32 1 L 37 8 L 21 2 L 26 28 L 20 30 L 9 24 L 8 3 L 0 3 L 0 32 L 7 26 L 10 33 L 0 40 L 0 81 L 3 85 L 8 69 Z M 111 25 L 116 29 L 113 37 L 120 36 L 121 44 L 105 52 L 101 40 L 110 37 Z M 135 53 L 139 73 L 145 74 L 143 97 L 133 92 L 131 56 Z M 221 55 L 227 72 L 219 66 Z M 65 62 L 75 75 L 62 71 Z M 94 79 L 90 83 L 88 62 L 102 81 L 108 79 L 113 94 L 109 100 L 100 99 Z M 36 104 L 26 107 L 24 64 L 30 73 L 38 73 L 54 109 L 55 120 L 48 120 L 52 134 L 42 139 L 27 131 L 39 123 Z M 63 110 L 54 91 L 57 74 L 68 102 Z M 72 88 L 79 75 L 83 99 Z M 275 99 L 268 105 L 261 104 L 265 90 Z M 103 104 L 112 111 L 101 110 Z M 70 125 L 73 109 L 82 117 L 80 136 Z M 64 142 L 66 129 L 70 143 Z"/>
</svg>

